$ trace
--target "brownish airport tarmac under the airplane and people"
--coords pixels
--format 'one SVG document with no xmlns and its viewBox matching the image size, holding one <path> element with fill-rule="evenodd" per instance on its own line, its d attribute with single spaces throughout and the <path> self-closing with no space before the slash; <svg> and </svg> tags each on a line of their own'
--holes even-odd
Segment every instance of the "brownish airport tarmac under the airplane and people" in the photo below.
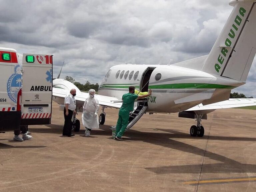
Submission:
<svg viewBox="0 0 256 192">
<path fill-rule="evenodd" d="M 203 120 L 204 137 L 191 137 L 194 119 L 145 114 L 111 138 L 117 109 L 84 136 L 62 136 L 63 112 L 53 103 L 52 124 L 29 126 L 33 139 L 0 134 L 0 192 L 256 191 L 256 112 L 222 109 Z M 78 118 L 81 119 L 81 114 Z"/>
</svg>

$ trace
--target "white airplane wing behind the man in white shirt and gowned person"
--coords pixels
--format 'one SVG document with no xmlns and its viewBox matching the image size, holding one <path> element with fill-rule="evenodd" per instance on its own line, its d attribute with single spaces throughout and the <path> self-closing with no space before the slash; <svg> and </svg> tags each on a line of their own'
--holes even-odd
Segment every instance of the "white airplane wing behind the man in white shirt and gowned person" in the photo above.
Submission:
<svg viewBox="0 0 256 192">
<path fill-rule="evenodd" d="M 52 89 L 52 96 L 55 98 L 61 98 L 64 99 L 66 95 L 68 94 L 68 90 L 61 89 L 61 88 L 55 88 Z M 119 99 L 115 97 L 108 97 L 103 95 L 96 95 L 95 97 L 98 99 L 99 104 L 101 106 L 111 107 L 119 109 L 122 106 L 122 103 L 114 103 L 113 101 L 118 101 Z M 83 103 L 85 102 L 85 99 L 88 98 L 88 93 L 81 92 L 81 95 L 75 96 L 77 103 Z M 63 103 L 63 102 L 62 102 Z"/>
</svg>

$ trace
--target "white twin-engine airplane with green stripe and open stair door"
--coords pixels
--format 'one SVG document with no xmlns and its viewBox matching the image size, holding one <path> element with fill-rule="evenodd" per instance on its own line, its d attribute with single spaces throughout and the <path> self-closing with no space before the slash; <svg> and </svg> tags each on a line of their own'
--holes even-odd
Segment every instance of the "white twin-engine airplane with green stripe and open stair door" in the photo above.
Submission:
<svg viewBox="0 0 256 192">
<path fill-rule="evenodd" d="M 229 99 L 232 89 L 245 84 L 256 53 L 256 0 L 231 0 L 233 6 L 223 30 L 209 55 L 172 65 L 122 64 L 109 69 L 99 86 L 99 116 L 104 124 L 104 109 L 120 108 L 122 95 L 134 86 L 141 92 L 152 89 L 146 100 L 135 103 L 130 113 L 129 130 L 145 113 L 179 113 L 196 119 L 191 136 L 203 137 L 202 119 L 216 109 L 255 106 L 256 99 Z M 77 90 L 78 111 L 88 97 L 64 79 L 53 80 L 53 101 L 63 105 L 70 89 Z M 111 127 L 115 130 L 115 126 Z"/>
</svg>

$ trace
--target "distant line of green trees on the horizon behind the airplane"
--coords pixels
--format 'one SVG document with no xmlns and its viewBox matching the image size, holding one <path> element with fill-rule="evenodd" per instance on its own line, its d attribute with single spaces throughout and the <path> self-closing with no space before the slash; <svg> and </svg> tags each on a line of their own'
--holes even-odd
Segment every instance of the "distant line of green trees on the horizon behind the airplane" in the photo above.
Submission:
<svg viewBox="0 0 256 192">
<path fill-rule="evenodd" d="M 87 81 L 85 84 L 81 84 L 77 82 L 73 77 L 66 76 L 65 80 L 70 81 L 73 83 L 75 86 L 77 86 L 78 89 L 81 91 L 89 91 L 90 89 L 94 89 L 95 91 L 98 91 L 99 89 L 99 84 L 91 84 L 89 81 Z M 243 93 L 230 93 L 230 98 L 253 98 L 253 97 L 246 97 Z"/>
</svg>

